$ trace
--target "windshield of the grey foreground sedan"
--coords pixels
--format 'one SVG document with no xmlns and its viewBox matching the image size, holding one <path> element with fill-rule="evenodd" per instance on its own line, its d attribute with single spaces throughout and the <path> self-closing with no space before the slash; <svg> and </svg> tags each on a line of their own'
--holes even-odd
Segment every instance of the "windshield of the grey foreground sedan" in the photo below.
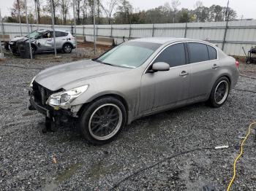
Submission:
<svg viewBox="0 0 256 191">
<path fill-rule="evenodd" d="M 141 66 L 161 44 L 151 42 L 125 42 L 97 58 L 97 62 L 113 66 L 137 68 Z"/>
</svg>

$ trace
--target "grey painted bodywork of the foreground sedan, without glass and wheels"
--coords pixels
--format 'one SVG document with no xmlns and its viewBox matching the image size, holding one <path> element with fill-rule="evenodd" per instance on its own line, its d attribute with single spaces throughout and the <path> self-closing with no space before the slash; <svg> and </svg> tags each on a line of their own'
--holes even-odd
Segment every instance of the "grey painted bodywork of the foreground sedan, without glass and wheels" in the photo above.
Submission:
<svg viewBox="0 0 256 191">
<path fill-rule="evenodd" d="M 231 87 L 234 87 L 238 81 L 236 60 L 208 42 L 176 38 L 148 38 L 133 41 L 154 42 L 162 45 L 136 69 L 83 60 L 41 71 L 35 81 L 50 90 L 61 88 L 70 90 L 89 85 L 85 93 L 72 101 L 72 106 L 89 103 L 102 95 L 118 95 L 127 106 L 128 123 L 148 114 L 206 101 L 214 82 L 219 77 L 227 76 L 231 81 Z M 214 61 L 176 66 L 169 71 L 146 72 L 154 58 L 165 47 L 180 42 L 200 42 L 211 45 L 217 49 L 218 58 Z M 214 64 L 219 68 L 213 69 Z M 187 71 L 187 75 L 181 76 L 182 71 Z"/>
</svg>

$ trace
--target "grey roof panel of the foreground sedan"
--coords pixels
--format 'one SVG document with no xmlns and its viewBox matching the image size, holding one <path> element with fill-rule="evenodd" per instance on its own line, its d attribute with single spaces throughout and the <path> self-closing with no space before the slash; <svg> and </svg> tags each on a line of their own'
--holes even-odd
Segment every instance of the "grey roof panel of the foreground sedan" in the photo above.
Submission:
<svg viewBox="0 0 256 191">
<path fill-rule="evenodd" d="M 151 37 L 151 38 L 142 38 L 142 39 L 133 39 L 133 42 L 151 42 L 157 44 L 165 44 L 165 43 L 173 43 L 173 42 L 181 42 L 181 41 L 196 41 L 203 42 L 208 44 L 208 42 L 198 40 L 198 39 L 187 39 L 187 38 L 175 38 L 175 37 Z"/>
</svg>

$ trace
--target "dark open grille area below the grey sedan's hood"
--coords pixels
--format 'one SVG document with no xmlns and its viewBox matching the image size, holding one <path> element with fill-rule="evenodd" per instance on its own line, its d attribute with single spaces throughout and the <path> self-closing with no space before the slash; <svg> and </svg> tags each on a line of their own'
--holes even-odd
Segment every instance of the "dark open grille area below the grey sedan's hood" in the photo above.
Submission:
<svg viewBox="0 0 256 191">
<path fill-rule="evenodd" d="M 39 85 L 37 82 L 33 83 L 34 101 L 37 102 L 39 106 L 45 106 L 46 101 L 53 93 L 55 92 L 42 87 L 42 85 Z"/>
</svg>

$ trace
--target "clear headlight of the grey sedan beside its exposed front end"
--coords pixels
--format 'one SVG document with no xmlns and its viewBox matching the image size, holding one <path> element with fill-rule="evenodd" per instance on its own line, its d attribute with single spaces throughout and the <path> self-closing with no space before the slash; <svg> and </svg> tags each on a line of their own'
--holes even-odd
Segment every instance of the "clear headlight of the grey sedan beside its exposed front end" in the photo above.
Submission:
<svg viewBox="0 0 256 191">
<path fill-rule="evenodd" d="M 54 93 L 53 95 L 50 95 L 46 103 L 50 106 L 66 106 L 75 98 L 78 98 L 79 95 L 84 93 L 88 87 L 89 85 L 83 85 L 80 87 L 75 87 L 72 90 Z"/>
</svg>

